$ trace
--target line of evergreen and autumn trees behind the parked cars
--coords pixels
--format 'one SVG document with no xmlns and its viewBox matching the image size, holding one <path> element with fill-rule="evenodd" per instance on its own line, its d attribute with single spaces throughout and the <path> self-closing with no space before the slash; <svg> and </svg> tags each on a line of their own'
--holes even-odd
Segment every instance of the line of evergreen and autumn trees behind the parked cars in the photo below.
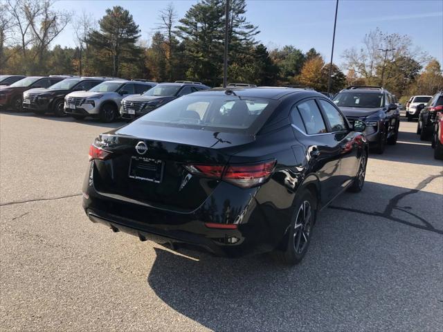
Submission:
<svg viewBox="0 0 443 332">
<path fill-rule="evenodd" d="M 225 27 L 224 0 L 200 0 L 184 17 L 169 4 L 159 12 L 150 43 L 128 10 L 114 6 L 96 22 L 82 12 L 54 10 L 51 0 L 8 0 L 0 4 L 0 73 L 71 73 L 157 82 L 196 80 L 220 86 Z M 257 85 L 306 86 L 327 90 L 329 63 L 311 48 L 268 50 L 258 26 L 246 19 L 246 1 L 231 0 L 228 15 L 228 81 Z M 53 40 L 71 24 L 75 47 Z M 397 96 L 443 89 L 440 64 L 413 48 L 408 36 L 378 28 L 363 39 L 363 48 L 343 54 L 341 68 L 332 65 L 332 91 L 351 84 L 383 85 Z M 384 62 L 380 48 L 395 48 Z M 424 71 L 422 71 L 422 69 Z"/>
</svg>

